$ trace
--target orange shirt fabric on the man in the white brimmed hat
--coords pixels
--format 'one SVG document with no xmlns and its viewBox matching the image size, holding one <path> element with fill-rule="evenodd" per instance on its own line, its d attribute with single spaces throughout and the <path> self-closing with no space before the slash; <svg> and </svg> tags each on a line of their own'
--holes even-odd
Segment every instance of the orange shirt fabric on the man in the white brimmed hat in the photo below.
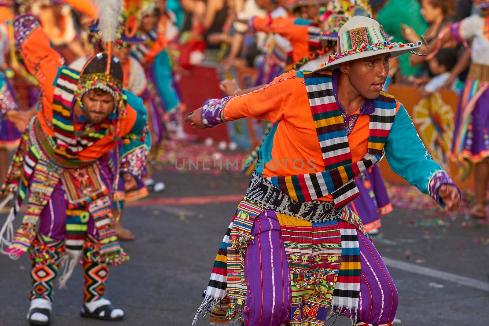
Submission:
<svg viewBox="0 0 489 326">
<path fill-rule="evenodd" d="M 398 110 L 399 107 L 398 102 Z M 325 171 L 304 78 L 296 76 L 294 70 L 275 78 L 266 87 L 229 99 L 223 108 L 223 117 L 225 121 L 244 117 L 265 119 L 272 123 L 280 121 L 271 149 L 271 159 L 274 160 L 265 164 L 264 177 Z M 348 136 L 354 162 L 360 161 L 367 153 L 369 123 L 369 115 L 359 114 Z M 293 161 L 297 159 L 301 161 L 294 166 Z M 302 169 L 301 162 L 304 162 Z M 330 201 L 333 197 L 328 195 L 318 200 Z"/>
</svg>

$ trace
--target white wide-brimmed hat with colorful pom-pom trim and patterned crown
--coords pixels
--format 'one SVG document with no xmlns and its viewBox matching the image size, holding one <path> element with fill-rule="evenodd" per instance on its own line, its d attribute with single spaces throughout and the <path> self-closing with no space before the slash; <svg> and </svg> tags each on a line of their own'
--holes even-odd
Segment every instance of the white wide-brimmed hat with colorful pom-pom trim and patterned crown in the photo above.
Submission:
<svg viewBox="0 0 489 326">
<path fill-rule="evenodd" d="M 316 71 L 333 70 L 339 64 L 373 57 L 389 52 L 391 58 L 412 52 L 422 45 L 414 43 L 397 43 L 389 41 L 382 26 L 376 21 L 364 16 L 354 16 L 338 31 L 337 52 L 328 58 L 328 62 Z"/>
</svg>

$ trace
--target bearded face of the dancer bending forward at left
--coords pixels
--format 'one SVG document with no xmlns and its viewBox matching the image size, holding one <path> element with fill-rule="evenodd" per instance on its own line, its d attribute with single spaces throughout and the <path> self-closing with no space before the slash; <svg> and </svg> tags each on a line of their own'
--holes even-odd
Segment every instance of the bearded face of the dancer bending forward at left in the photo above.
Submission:
<svg viewBox="0 0 489 326">
<path fill-rule="evenodd" d="M 99 89 L 92 89 L 82 97 L 82 103 L 87 114 L 87 120 L 93 124 L 104 122 L 114 109 L 114 99 L 111 94 Z"/>
</svg>

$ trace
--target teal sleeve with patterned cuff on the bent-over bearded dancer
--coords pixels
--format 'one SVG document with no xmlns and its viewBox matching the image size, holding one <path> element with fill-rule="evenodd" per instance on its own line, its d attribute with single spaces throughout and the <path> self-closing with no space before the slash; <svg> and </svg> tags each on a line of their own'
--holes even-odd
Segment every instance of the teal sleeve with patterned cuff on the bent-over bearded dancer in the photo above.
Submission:
<svg viewBox="0 0 489 326">
<path fill-rule="evenodd" d="M 124 90 L 124 96 L 127 104 L 136 111 L 137 116 L 131 131 L 122 137 L 119 171 L 120 174 L 130 173 L 139 179 L 151 149 L 151 136 L 147 126 L 148 113 L 141 98 L 128 90 Z"/>
</svg>

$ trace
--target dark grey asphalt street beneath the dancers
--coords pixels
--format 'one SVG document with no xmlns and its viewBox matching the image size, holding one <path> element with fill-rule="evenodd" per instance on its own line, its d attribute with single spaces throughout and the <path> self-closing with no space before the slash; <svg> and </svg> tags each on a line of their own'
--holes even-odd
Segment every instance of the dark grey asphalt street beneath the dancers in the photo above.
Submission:
<svg viewBox="0 0 489 326">
<path fill-rule="evenodd" d="M 156 176 L 167 189 L 125 209 L 123 225 L 137 238 L 122 242 L 131 260 L 110 271 L 107 295 L 125 311 L 124 321 L 79 316 L 83 277 L 78 266 L 68 288 L 56 289 L 51 325 L 191 325 L 248 177 L 177 172 Z M 374 238 L 399 291 L 397 325 L 484 325 L 489 320 L 489 226 L 416 226 L 413 220 L 421 217 L 423 212 L 395 209 L 382 218 L 381 232 Z M 0 216 L 1 224 L 4 218 Z M 0 257 L 1 325 L 28 325 L 29 264 L 28 257 Z M 208 319 L 197 325 L 209 325 Z M 338 318 L 334 325 L 347 326 L 349 320 Z"/>
</svg>

